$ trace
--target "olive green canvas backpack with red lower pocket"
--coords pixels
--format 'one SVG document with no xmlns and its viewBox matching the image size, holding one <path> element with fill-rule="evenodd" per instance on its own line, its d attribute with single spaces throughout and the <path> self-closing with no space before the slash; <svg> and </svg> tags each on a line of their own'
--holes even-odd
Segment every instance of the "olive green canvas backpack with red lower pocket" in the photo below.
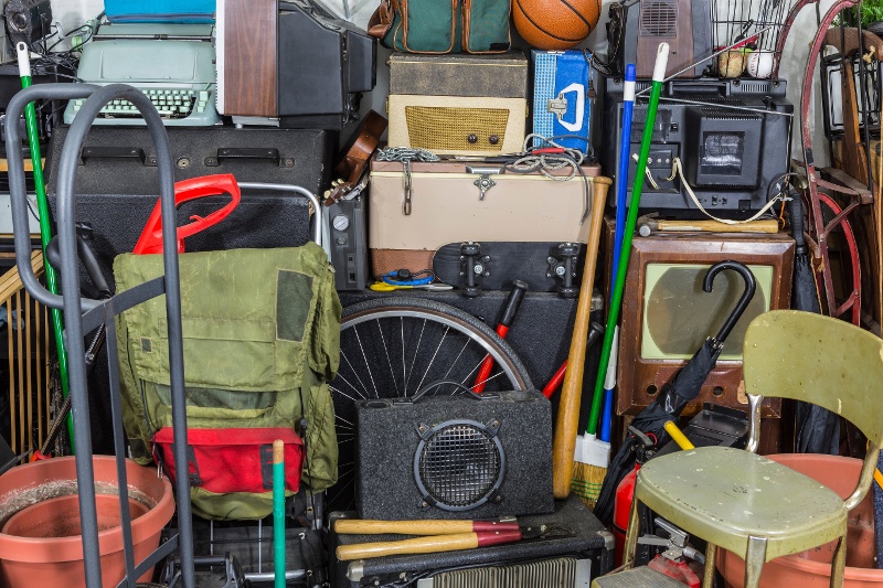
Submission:
<svg viewBox="0 0 883 588">
<path fill-rule="evenodd" d="M 290 464 L 286 455 L 286 469 L 292 469 L 286 483 L 290 495 L 301 472 L 296 445 L 301 419 L 306 466 L 300 482 L 310 492 L 333 485 L 338 446 L 328 382 L 339 365 L 341 307 L 325 252 L 309 243 L 189 253 L 180 255 L 179 264 L 193 512 L 212 520 L 267 516 L 272 487 L 260 485 L 263 470 L 257 468 L 265 466 L 258 455 L 273 439 L 255 438 L 275 431 L 292 440 Z M 162 256 L 120 255 L 114 275 L 121 292 L 162 276 Z M 170 470 L 170 460 L 162 459 L 170 446 L 159 441 L 170 438 L 172 424 L 164 297 L 117 319 L 117 346 L 132 458 Z M 220 449 L 212 445 L 219 439 Z M 251 475 L 257 488 L 219 492 L 211 480 L 224 475 L 244 481 Z"/>
</svg>

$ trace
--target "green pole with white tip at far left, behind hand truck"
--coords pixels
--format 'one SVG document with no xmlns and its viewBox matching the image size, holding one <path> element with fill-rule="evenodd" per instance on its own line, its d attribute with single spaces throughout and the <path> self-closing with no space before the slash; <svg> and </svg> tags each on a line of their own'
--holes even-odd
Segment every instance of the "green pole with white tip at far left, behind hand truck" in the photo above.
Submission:
<svg viewBox="0 0 883 588">
<path fill-rule="evenodd" d="M 19 43 L 15 46 L 19 56 L 19 76 L 22 89 L 31 85 L 31 60 L 28 46 Z M 52 227 L 49 221 L 49 202 L 46 200 L 46 184 L 43 180 L 43 160 L 40 156 L 40 132 L 36 129 L 36 110 L 34 103 L 29 103 L 24 108 L 24 121 L 28 125 L 28 142 L 31 147 L 31 163 L 34 170 L 34 189 L 36 192 L 36 211 L 40 215 L 40 242 L 43 245 L 43 267 L 46 272 L 46 288 L 52 293 L 58 293 L 58 278 L 46 260 L 46 247 L 52 239 Z M 58 353 L 58 378 L 62 381 L 62 396 L 66 399 L 70 394 L 67 384 L 67 352 L 64 348 L 64 321 L 60 309 L 51 309 L 52 331 L 55 335 L 55 350 Z M 71 440 L 71 453 L 74 452 L 74 420 L 67 415 L 67 437 Z"/>
</svg>

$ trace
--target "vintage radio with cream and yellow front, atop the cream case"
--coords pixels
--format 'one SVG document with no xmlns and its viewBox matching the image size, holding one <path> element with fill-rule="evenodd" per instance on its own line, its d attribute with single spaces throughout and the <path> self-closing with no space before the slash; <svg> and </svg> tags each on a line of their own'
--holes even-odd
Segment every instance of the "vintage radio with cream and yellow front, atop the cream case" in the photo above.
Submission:
<svg viewBox="0 0 883 588">
<path fill-rule="evenodd" d="M 447 154 L 520 152 L 526 97 L 528 60 L 521 52 L 393 53 L 389 143 Z"/>
</svg>

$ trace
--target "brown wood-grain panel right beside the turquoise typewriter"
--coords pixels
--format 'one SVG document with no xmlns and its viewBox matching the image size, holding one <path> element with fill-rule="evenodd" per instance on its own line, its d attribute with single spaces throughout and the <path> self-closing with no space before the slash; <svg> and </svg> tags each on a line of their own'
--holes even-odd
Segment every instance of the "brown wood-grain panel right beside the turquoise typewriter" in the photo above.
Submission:
<svg viewBox="0 0 883 588">
<path fill-rule="evenodd" d="M 226 0 L 224 110 L 276 116 L 277 0 Z"/>
</svg>

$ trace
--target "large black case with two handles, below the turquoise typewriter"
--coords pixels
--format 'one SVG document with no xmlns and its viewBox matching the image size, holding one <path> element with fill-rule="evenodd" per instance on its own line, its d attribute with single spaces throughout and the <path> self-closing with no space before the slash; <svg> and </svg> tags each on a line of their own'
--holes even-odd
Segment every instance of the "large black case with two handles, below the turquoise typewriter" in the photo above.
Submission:
<svg viewBox="0 0 883 588">
<path fill-rule="evenodd" d="M 175 181 L 232 173 L 240 182 L 300 185 L 321 196 L 329 180 L 331 142 L 323 130 L 167 127 Z M 50 206 L 55 207 L 57 161 L 67 127 L 54 130 L 46 161 Z M 76 220 L 105 275 L 114 257 L 131 252 L 157 203 L 158 170 L 146 128 L 93 127 L 81 151 Z M 227 196 L 189 202 L 178 210 L 179 226 L 205 216 Z M 241 247 L 287 247 L 312 238 L 307 201 L 276 191 L 243 191 L 240 205 L 222 224 L 187 239 L 188 252 Z M 113 286 L 113 282 L 111 282 Z"/>
</svg>

